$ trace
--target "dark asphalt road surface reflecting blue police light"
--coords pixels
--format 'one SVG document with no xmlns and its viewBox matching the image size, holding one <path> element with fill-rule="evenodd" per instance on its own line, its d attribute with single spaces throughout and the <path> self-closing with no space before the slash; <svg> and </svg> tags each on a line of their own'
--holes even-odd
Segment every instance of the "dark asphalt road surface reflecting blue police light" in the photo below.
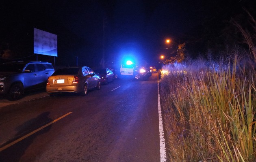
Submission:
<svg viewBox="0 0 256 162">
<path fill-rule="evenodd" d="M 156 74 L 25 98 L 0 98 L 0 162 L 160 162 Z"/>
</svg>

